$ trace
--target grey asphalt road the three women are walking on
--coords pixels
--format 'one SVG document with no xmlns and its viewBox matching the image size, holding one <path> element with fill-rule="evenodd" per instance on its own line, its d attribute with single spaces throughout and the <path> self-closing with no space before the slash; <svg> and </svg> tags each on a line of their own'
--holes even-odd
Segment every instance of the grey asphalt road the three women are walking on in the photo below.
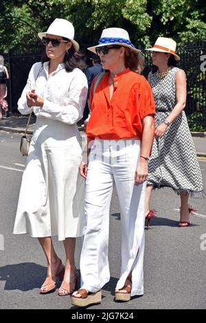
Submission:
<svg viewBox="0 0 206 323">
<path fill-rule="evenodd" d="M 45 278 L 45 258 L 36 239 L 14 236 L 12 227 L 25 157 L 19 153 L 21 135 L 0 131 L 0 308 L 1 309 L 72 309 L 69 296 L 38 293 Z M 206 161 L 200 161 L 206 187 Z M 146 231 L 145 293 L 127 303 L 116 303 L 120 256 L 120 221 L 117 195 L 111 205 L 109 258 L 111 281 L 103 289 L 100 305 L 89 309 L 205 309 L 206 308 L 206 205 L 204 199 L 190 201 L 198 209 L 188 228 L 177 227 L 179 197 L 170 189 L 152 196 L 158 211 L 152 227 Z M 205 236 L 203 236 L 205 234 Z M 4 238 L 4 244 L 3 244 Z M 205 238 L 205 242 L 201 240 Z M 201 249 L 202 243 L 202 249 Z M 62 243 L 54 239 L 59 256 L 64 259 Z M 3 249 L 4 246 L 4 250 Z M 79 265 L 81 241 L 76 246 Z M 205 249 L 205 251 L 203 250 Z"/>
</svg>

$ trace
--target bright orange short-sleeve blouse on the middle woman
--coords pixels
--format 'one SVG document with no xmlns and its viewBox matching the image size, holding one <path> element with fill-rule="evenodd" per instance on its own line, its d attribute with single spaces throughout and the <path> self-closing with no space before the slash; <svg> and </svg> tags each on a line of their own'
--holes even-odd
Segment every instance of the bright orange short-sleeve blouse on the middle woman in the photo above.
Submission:
<svg viewBox="0 0 206 323">
<path fill-rule="evenodd" d="M 155 115 L 155 100 L 148 81 L 144 76 L 126 69 L 115 76 L 110 99 L 108 76 L 108 73 L 104 75 L 94 96 L 90 96 L 91 118 L 87 124 L 87 137 L 141 139 L 143 118 Z"/>
</svg>

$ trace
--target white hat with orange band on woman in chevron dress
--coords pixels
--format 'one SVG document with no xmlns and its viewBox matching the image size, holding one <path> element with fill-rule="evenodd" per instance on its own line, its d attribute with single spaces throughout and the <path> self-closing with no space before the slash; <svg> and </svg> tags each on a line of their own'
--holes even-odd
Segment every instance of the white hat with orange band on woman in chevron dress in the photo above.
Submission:
<svg viewBox="0 0 206 323">
<path fill-rule="evenodd" d="M 175 54 L 176 52 L 176 41 L 167 37 L 158 37 L 155 45 L 152 48 L 146 48 L 152 52 L 163 52 L 174 55 L 175 60 L 180 60 L 180 57 Z"/>
</svg>

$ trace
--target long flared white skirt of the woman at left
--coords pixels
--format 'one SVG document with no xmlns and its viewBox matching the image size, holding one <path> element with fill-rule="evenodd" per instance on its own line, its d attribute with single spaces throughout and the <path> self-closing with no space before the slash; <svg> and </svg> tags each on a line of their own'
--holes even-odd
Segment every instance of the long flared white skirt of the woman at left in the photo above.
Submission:
<svg viewBox="0 0 206 323">
<path fill-rule="evenodd" d="M 81 157 L 76 124 L 37 118 L 22 177 L 14 234 L 58 236 L 60 241 L 82 235 Z"/>
</svg>

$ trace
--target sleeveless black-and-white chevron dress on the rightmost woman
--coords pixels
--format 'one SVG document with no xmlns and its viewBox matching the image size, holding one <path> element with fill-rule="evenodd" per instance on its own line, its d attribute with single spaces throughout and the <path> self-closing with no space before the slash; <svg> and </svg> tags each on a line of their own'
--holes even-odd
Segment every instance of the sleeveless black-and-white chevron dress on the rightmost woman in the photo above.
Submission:
<svg viewBox="0 0 206 323">
<path fill-rule="evenodd" d="M 157 111 L 156 128 L 176 105 L 177 71 L 179 68 L 173 67 L 164 78 L 157 72 L 150 76 Z M 155 137 L 148 169 L 147 185 L 167 186 L 177 194 L 187 192 L 191 197 L 204 196 L 201 169 L 184 111 L 170 124 L 163 137 Z"/>
</svg>

